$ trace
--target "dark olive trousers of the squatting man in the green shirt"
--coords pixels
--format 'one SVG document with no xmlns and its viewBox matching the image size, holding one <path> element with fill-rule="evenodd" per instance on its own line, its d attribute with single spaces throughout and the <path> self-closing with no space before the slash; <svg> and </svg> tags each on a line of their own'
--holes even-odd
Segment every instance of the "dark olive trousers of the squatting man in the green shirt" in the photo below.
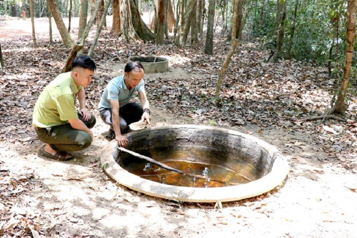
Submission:
<svg viewBox="0 0 357 238">
<path fill-rule="evenodd" d="M 92 128 L 96 122 L 93 114 L 88 121 L 84 121 L 79 114 L 78 118 L 88 128 Z M 47 128 L 35 127 L 35 130 L 40 141 L 49 144 L 56 152 L 79 151 L 92 143 L 90 134 L 83 130 L 74 129 L 69 123 Z"/>
</svg>

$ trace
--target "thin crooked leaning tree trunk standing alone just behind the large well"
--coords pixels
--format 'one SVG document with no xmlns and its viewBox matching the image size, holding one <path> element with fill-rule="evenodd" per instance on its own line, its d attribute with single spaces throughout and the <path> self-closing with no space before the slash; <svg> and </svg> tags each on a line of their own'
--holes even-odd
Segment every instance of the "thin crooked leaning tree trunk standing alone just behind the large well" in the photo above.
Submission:
<svg viewBox="0 0 357 238">
<path fill-rule="evenodd" d="M 216 93 L 215 93 L 215 99 L 213 99 L 213 104 L 218 106 L 218 102 L 219 102 L 219 97 L 220 97 L 220 91 L 221 91 L 221 87 L 222 87 L 222 82 L 223 82 L 223 77 L 224 77 L 224 73 L 226 72 L 226 69 L 228 67 L 229 61 L 231 60 L 232 55 L 234 54 L 235 48 L 238 45 L 238 40 L 236 39 L 236 24 L 237 24 L 237 12 L 238 12 L 238 0 L 234 0 L 234 11 L 233 11 L 233 22 L 232 22 L 232 45 L 231 45 L 231 49 L 228 52 L 228 55 L 226 57 L 226 59 L 223 62 L 222 65 L 222 69 L 221 69 L 221 73 L 218 76 L 218 82 L 217 82 L 217 88 L 216 88 Z M 209 12 L 209 11 L 208 11 Z"/>
</svg>

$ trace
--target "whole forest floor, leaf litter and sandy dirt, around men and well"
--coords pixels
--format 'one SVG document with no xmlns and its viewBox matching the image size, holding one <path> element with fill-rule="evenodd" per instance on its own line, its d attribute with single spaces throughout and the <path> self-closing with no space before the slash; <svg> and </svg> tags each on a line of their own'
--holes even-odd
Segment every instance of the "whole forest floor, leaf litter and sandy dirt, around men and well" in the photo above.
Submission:
<svg viewBox="0 0 357 238">
<path fill-rule="evenodd" d="M 11 24 L 0 22 L 2 36 Z M 35 24 L 45 27 L 46 19 Z M 351 98 L 346 121 L 305 120 L 329 108 L 336 86 L 325 68 L 293 60 L 265 63 L 268 51 L 245 39 L 226 72 L 221 105 L 214 107 L 229 43 L 215 41 L 212 57 L 202 45 L 124 44 L 108 29 L 98 41 L 97 71 L 86 89 L 87 106 L 97 118 L 94 142 L 67 162 L 41 156 L 44 145 L 31 116 L 69 50 L 57 33 L 49 45 L 45 30 L 38 31 L 36 47 L 30 33 L 0 38 L 6 63 L 0 71 L 0 237 L 357 237 L 357 99 Z M 106 83 L 123 73 L 132 55 L 170 60 L 168 73 L 145 76 L 153 126 L 214 125 L 254 135 L 287 157 L 291 169 L 284 184 L 224 202 L 222 209 L 169 202 L 117 185 L 99 164 L 108 126 L 96 106 Z"/>
</svg>

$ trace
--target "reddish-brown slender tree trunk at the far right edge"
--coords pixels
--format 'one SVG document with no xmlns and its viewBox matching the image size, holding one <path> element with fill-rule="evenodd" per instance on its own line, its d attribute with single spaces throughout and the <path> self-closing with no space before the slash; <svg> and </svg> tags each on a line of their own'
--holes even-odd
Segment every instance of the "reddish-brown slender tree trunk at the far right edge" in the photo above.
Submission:
<svg viewBox="0 0 357 238">
<path fill-rule="evenodd" d="M 346 61 L 344 66 L 341 88 L 338 93 L 334 107 L 329 114 L 340 113 L 345 116 L 348 104 L 346 102 L 346 93 L 351 72 L 351 63 L 353 56 L 353 48 L 356 36 L 356 0 L 347 0 L 347 19 L 346 19 Z"/>
</svg>

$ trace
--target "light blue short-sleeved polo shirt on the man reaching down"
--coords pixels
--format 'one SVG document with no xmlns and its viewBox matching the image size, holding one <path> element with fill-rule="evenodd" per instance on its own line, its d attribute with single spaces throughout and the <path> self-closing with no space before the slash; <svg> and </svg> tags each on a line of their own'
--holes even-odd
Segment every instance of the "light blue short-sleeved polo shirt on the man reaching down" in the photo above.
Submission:
<svg viewBox="0 0 357 238">
<path fill-rule="evenodd" d="M 106 85 L 104 92 L 101 95 L 98 109 L 111 108 L 110 100 L 118 100 L 119 107 L 123 107 L 133 97 L 136 91 L 145 92 L 144 79 L 141 79 L 140 83 L 135 88 L 129 90 L 125 85 L 124 75 L 116 77 Z"/>
</svg>

